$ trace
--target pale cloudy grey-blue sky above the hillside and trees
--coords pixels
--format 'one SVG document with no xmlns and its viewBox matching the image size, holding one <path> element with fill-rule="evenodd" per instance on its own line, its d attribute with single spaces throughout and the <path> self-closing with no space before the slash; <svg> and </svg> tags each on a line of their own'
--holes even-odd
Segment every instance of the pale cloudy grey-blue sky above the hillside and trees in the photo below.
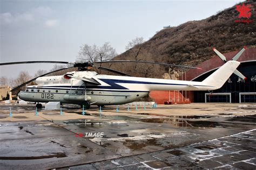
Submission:
<svg viewBox="0 0 256 170">
<path fill-rule="evenodd" d="M 0 62 L 71 61 L 83 44 L 110 42 L 120 54 L 136 37 L 201 20 L 241 1 L 0 1 Z M 52 64 L 0 66 L 0 77 Z"/>
</svg>

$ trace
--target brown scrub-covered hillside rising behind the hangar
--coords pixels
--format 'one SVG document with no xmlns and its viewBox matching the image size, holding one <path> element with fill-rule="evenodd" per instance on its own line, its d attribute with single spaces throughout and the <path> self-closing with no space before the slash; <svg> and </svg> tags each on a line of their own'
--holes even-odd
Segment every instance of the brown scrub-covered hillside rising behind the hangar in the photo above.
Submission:
<svg viewBox="0 0 256 170">
<path fill-rule="evenodd" d="M 214 56 L 216 47 L 220 52 L 234 51 L 256 43 L 256 2 L 251 4 L 252 23 L 236 23 L 239 12 L 235 5 L 217 15 L 199 21 L 191 21 L 176 27 L 160 30 L 150 40 L 116 56 L 113 60 L 137 60 L 196 66 Z M 170 20 L 171 23 L 171 20 Z M 125 66 L 125 67 L 124 67 Z M 112 64 L 112 69 L 133 76 L 160 77 L 167 67 L 145 64 Z"/>
</svg>

